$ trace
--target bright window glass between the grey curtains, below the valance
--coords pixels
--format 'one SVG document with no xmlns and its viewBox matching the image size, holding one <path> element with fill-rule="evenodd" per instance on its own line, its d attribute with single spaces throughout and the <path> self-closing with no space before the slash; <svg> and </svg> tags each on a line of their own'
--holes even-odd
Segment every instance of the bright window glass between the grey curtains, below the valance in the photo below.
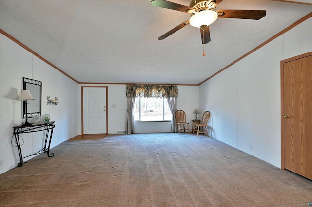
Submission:
<svg viewBox="0 0 312 207">
<path fill-rule="evenodd" d="M 137 97 L 133 115 L 135 121 L 164 121 L 171 120 L 168 102 L 165 98 Z"/>
</svg>

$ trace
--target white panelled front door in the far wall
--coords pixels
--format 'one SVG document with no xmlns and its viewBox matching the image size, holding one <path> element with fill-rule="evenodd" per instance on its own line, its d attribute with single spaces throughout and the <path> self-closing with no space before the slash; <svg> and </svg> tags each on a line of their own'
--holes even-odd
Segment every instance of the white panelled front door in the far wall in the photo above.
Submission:
<svg viewBox="0 0 312 207">
<path fill-rule="evenodd" d="M 83 134 L 106 134 L 106 87 L 83 87 Z"/>
</svg>

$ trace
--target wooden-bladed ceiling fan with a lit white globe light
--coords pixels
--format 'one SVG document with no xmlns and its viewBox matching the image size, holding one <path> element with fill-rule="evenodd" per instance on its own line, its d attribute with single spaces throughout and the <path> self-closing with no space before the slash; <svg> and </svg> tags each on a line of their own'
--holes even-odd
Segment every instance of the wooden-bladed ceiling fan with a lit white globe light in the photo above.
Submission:
<svg viewBox="0 0 312 207">
<path fill-rule="evenodd" d="M 193 27 L 200 28 L 202 44 L 207 44 L 210 42 L 209 25 L 214 23 L 217 18 L 241 18 L 258 20 L 266 15 L 266 10 L 217 10 L 215 12 L 215 7 L 221 1 L 222 0 L 192 0 L 190 6 L 188 7 L 166 0 L 152 0 L 152 6 L 173 9 L 192 15 L 189 20 L 186 20 L 164 35 L 161 35 L 158 37 L 158 39 L 165 39 L 186 25 L 191 24 Z"/>
</svg>

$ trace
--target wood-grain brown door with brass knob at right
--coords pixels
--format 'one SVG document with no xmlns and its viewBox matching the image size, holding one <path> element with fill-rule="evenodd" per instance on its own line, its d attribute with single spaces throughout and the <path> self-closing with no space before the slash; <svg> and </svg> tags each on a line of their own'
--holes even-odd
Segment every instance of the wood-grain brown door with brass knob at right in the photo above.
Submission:
<svg viewBox="0 0 312 207">
<path fill-rule="evenodd" d="M 282 168 L 312 179 L 312 55 L 283 64 Z"/>
</svg>

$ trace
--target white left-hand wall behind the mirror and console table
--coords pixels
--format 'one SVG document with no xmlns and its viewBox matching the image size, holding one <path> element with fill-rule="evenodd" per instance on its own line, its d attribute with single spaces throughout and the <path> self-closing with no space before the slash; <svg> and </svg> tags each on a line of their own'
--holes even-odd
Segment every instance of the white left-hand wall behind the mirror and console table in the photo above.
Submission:
<svg viewBox="0 0 312 207">
<path fill-rule="evenodd" d="M 51 120 L 56 121 L 51 147 L 77 135 L 77 83 L 0 34 L 0 160 L 3 160 L 0 174 L 19 163 L 18 150 L 11 145 L 11 138 L 12 127 L 23 121 L 22 101 L 17 101 L 22 77 L 42 81 L 42 114 L 50 114 Z M 48 95 L 58 96 L 59 104 L 48 106 Z M 23 156 L 31 155 L 42 149 L 43 132 L 24 134 L 23 140 Z"/>
</svg>

